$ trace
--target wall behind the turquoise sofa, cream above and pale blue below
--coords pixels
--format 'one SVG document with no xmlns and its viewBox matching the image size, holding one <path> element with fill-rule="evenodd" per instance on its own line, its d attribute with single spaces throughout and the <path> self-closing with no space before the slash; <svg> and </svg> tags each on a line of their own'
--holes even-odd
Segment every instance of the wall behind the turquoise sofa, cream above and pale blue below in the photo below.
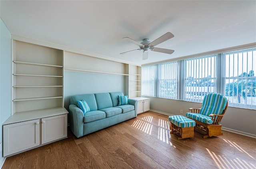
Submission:
<svg viewBox="0 0 256 169">
<path fill-rule="evenodd" d="M 71 95 L 113 91 L 125 93 L 127 76 L 120 75 L 126 73 L 125 66 L 119 62 L 64 51 L 64 107 L 68 110 Z"/>
</svg>

